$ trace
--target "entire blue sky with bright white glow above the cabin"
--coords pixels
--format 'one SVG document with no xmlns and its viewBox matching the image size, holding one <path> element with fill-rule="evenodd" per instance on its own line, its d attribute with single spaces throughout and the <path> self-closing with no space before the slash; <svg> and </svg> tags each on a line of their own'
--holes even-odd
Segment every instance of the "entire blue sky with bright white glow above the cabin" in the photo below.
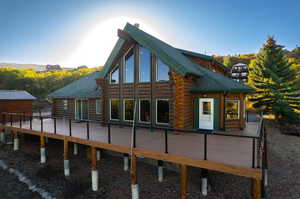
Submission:
<svg viewBox="0 0 300 199">
<path fill-rule="evenodd" d="M 298 0 L 0 0 L 0 62 L 105 64 L 126 22 L 208 55 L 300 45 Z"/>
</svg>

